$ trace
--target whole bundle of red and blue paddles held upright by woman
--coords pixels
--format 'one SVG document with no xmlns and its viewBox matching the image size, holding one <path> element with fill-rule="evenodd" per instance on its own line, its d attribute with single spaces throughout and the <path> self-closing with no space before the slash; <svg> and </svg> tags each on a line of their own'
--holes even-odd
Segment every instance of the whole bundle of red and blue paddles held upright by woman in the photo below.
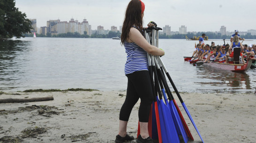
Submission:
<svg viewBox="0 0 256 143">
<path fill-rule="evenodd" d="M 143 29 L 144 37 L 151 45 L 156 47 L 158 47 L 158 30 L 162 29 L 154 26 L 148 29 Z M 154 102 L 151 105 L 151 113 L 149 117 L 149 134 L 151 138 L 158 139 L 159 143 L 180 143 L 181 140 L 187 143 L 188 138 L 194 140 L 188 129 L 187 123 L 181 114 L 179 106 L 173 98 L 167 83 L 168 78 L 173 86 L 173 90 L 175 90 L 176 95 L 180 99 L 183 108 L 203 142 L 203 138 L 161 58 L 159 56 L 148 54 L 148 62 L 151 86 L 154 94 Z M 139 125 L 137 135 L 140 135 Z"/>
</svg>

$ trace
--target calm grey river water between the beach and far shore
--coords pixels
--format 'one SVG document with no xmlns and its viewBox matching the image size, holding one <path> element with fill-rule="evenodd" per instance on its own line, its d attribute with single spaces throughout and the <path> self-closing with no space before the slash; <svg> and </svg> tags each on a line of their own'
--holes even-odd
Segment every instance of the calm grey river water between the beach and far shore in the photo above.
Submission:
<svg viewBox="0 0 256 143">
<path fill-rule="evenodd" d="M 206 44 L 224 44 L 208 40 Z M 180 92 L 239 92 L 256 89 L 256 69 L 234 73 L 184 61 L 197 41 L 159 39 L 162 57 Z M 227 42 L 226 42 L 227 43 Z M 230 43 L 230 42 L 229 42 Z M 243 44 L 256 44 L 256 40 Z M 106 38 L 22 38 L 0 41 L 0 91 L 90 88 L 126 90 L 126 53 L 120 40 Z M 170 84 L 171 87 L 171 84 Z M 173 90 L 173 89 L 171 89 Z"/>
</svg>

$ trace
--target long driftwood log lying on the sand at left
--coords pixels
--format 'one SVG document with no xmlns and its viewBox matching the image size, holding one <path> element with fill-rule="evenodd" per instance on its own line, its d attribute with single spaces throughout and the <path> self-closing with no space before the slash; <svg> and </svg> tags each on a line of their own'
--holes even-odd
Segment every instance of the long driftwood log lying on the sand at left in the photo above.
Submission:
<svg viewBox="0 0 256 143">
<path fill-rule="evenodd" d="M 48 101 L 48 100 L 53 100 L 53 96 L 39 97 L 39 98 L 6 98 L 6 99 L 0 99 L 0 103 L 35 102 L 35 101 Z"/>
</svg>

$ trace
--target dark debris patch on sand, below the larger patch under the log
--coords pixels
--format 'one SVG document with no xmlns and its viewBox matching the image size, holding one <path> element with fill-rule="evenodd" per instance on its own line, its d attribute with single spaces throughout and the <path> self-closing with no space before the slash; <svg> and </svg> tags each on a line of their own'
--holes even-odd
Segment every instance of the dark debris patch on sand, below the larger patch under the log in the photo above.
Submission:
<svg viewBox="0 0 256 143">
<path fill-rule="evenodd" d="M 43 134 L 47 131 L 46 128 L 26 128 L 22 131 L 22 134 L 20 137 L 26 138 L 26 137 L 37 137 L 39 134 Z"/>
</svg>

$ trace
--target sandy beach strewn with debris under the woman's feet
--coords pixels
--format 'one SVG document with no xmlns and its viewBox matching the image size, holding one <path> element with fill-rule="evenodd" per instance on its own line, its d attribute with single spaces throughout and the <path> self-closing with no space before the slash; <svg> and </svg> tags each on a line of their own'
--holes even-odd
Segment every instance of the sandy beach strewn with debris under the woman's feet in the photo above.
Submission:
<svg viewBox="0 0 256 143">
<path fill-rule="evenodd" d="M 177 96 L 194 141 L 202 143 Z M 4 98 L 54 100 L 0 103 L 0 143 L 114 143 L 126 91 L 2 92 Z M 256 95 L 181 93 L 205 143 L 256 143 Z M 139 101 L 128 122 L 136 136 Z M 38 109 L 43 112 L 38 113 Z M 136 143 L 136 140 L 131 143 Z"/>
</svg>

